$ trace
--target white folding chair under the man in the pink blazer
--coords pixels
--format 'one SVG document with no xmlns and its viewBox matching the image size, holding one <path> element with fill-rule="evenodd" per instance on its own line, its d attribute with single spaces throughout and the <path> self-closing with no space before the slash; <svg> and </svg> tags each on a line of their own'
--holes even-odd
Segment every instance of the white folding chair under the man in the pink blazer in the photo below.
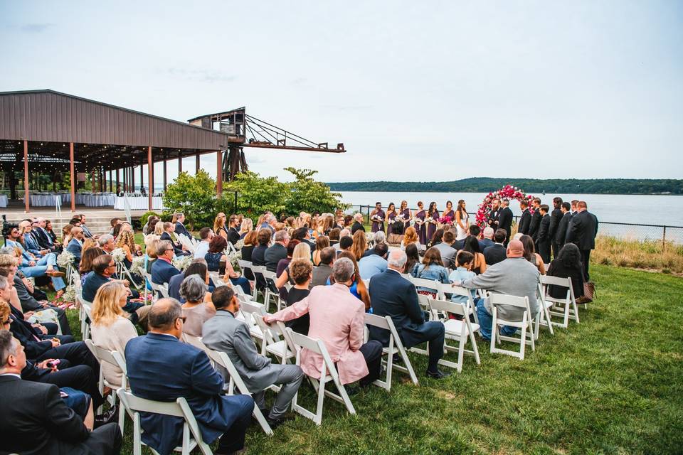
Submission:
<svg viewBox="0 0 683 455">
<path fill-rule="evenodd" d="M 287 328 L 287 332 L 290 334 L 290 337 L 292 338 L 292 341 L 294 342 L 294 345 L 297 350 L 297 365 L 301 365 L 302 349 L 310 350 L 311 352 L 317 353 L 322 357 L 322 363 L 320 365 L 320 379 L 317 380 L 309 377 L 309 380 L 311 381 L 313 388 L 316 390 L 318 394 L 317 407 L 315 413 L 307 410 L 305 407 L 302 407 L 298 404 L 298 392 L 292 400 L 292 410 L 302 414 L 302 416 L 306 417 L 307 419 L 311 419 L 313 422 L 315 422 L 316 425 L 319 425 L 322 423 L 322 405 L 325 396 L 327 395 L 328 397 L 332 398 L 332 400 L 343 403 L 344 406 L 346 406 L 346 410 L 349 411 L 349 414 L 356 414 L 354 405 L 353 403 L 351 403 L 349 395 L 346 394 L 346 389 L 344 389 L 344 385 L 342 385 L 342 382 L 339 380 L 337 368 L 334 367 L 334 363 L 332 362 L 332 359 L 329 357 L 329 353 L 327 352 L 327 348 L 325 348 L 324 343 L 321 340 L 314 340 L 313 338 L 309 338 L 305 335 L 302 335 L 301 333 L 296 333 L 295 331 L 292 331 L 291 328 Z M 325 390 L 325 384 L 327 384 L 327 382 L 330 381 L 334 382 L 334 385 L 337 386 L 339 395 L 330 392 L 329 390 Z"/>
</svg>

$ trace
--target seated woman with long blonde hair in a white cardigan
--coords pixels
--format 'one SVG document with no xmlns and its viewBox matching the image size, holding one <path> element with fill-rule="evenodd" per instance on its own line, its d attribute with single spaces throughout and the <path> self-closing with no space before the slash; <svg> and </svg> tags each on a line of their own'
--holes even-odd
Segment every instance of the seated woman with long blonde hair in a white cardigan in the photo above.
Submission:
<svg viewBox="0 0 683 455">
<path fill-rule="evenodd" d="M 126 343 L 137 337 L 133 323 L 125 316 L 122 307 L 126 304 L 127 291 L 120 282 L 108 282 L 97 289 L 92 301 L 90 333 L 95 346 L 116 350 L 123 356 Z M 110 363 L 102 363 L 102 372 L 111 385 L 121 385 L 123 372 Z"/>
</svg>

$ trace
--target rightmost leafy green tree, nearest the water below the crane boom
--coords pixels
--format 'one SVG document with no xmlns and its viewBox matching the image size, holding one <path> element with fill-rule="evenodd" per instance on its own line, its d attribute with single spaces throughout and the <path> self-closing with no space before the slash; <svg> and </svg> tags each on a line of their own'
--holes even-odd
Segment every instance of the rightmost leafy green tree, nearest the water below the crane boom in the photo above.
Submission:
<svg viewBox="0 0 683 455">
<path fill-rule="evenodd" d="M 311 169 L 285 168 L 285 171 L 295 176 L 295 181 L 290 183 L 290 192 L 287 193 L 285 201 L 285 212 L 295 215 L 300 212 L 312 213 L 334 212 L 335 209 L 349 208 L 349 205 L 342 203 L 342 195 L 332 193 L 329 186 L 315 181 L 313 176 L 318 171 Z"/>
</svg>

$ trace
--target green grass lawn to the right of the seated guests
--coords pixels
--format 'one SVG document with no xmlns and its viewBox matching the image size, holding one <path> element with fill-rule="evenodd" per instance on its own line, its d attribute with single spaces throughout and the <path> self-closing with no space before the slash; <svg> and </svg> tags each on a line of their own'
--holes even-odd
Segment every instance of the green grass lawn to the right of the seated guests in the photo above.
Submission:
<svg viewBox="0 0 683 455">
<path fill-rule="evenodd" d="M 439 381 L 411 354 L 419 386 L 396 373 L 391 393 L 352 397 L 356 416 L 328 399 L 321 427 L 297 416 L 269 438 L 254 424 L 248 453 L 682 453 L 683 279 L 600 265 L 591 275 L 598 299 L 581 324 L 542 332 L 526 360 L 480 341 L 481 365 L 466 358 Z M 131 439 L 128 424 L 122 453 Z"/>
</svg>

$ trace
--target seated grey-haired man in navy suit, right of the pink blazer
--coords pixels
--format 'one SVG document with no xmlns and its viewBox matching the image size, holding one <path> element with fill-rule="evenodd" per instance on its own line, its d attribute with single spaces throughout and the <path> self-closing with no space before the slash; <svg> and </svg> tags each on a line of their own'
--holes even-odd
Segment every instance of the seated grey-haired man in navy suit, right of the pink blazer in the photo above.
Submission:
<svg viewBox="0 0 683 455">
<path fill-rule="evenodd" d="M 438 254 L 438 250 L 434 250 Z M 425 313 L 418 304 L 418 294 L 413 283 L 401 277 L 406 265 L 406 253 L 394 250 L 389 253 L 388 269 L 375 275 L 370 281 L 370 298 L 373 314 L 391 316 L 398 336 L 406 348 L 420 343 L 429 343 L 429 363 L 427 375 L 430 378 L 444 378 L 448 373 L 438 369 L 438 362 L 443 357 L 445 328 L 440 321 L 425 321 Z M 369 327 L 370 339 L 378 340 L 388 346 L 388 332 L 376 327 Z"/>
</svg>

